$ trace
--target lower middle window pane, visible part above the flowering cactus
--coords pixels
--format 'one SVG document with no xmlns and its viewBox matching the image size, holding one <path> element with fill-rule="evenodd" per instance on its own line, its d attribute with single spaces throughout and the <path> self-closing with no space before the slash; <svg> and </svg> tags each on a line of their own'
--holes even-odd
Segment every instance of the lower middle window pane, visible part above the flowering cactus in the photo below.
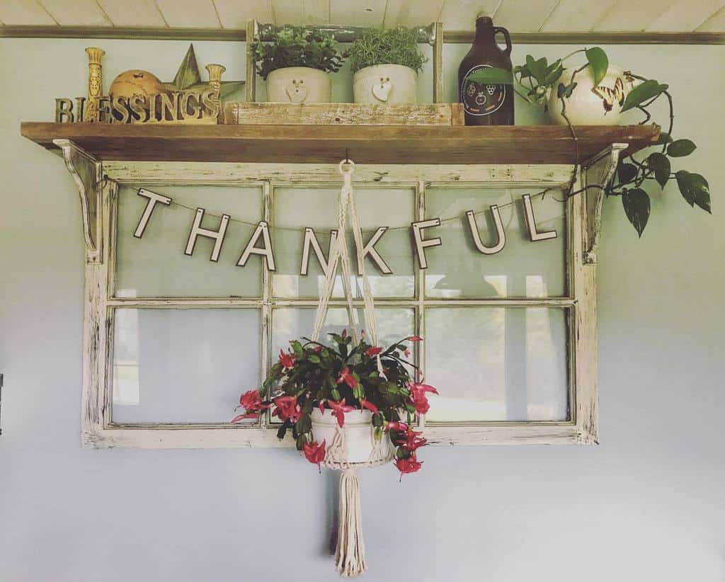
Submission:
<svg viewBox="0 0 725 582">
<path fill-rule="evenodd" d="M 289 348 L 289 342 L 302 336 L 312 336 L 312 327 L 315 325 L 314 308 L 280 307 L 272 312 L 272 360 L 276 361 L 280 349 Z M 363 309 L 357 309 L 360 329 L 365 329 L 365 315 Z M 378 323 L 378 341 L 381 346 L 389 346 L 394 341 L 412 336 L 415 330 L 415 312 L 413 309 L 378 308 L 375 310 Z M 331 307 L 328 309 L 325 326 L 320 333 L 320 343 L 328 344 L 328 333 L 341 333 L 349 331 L 350 325 L 347 309 L 344 307 Z M 368 338 L 370 341 L 370 338 Z"/>
</svg>

